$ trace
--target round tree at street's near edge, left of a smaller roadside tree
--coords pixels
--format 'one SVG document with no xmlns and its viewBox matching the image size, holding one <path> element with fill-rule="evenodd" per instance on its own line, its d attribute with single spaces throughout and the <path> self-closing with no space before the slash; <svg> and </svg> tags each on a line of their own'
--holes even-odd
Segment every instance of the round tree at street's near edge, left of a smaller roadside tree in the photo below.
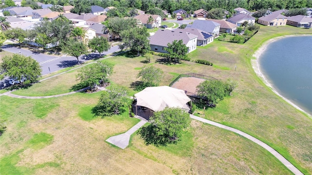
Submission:
<svg viewBox="0 0 312 175">
<path fill-rule="evenodd" d="M 76 57 L 79 62 L 79 57 L 83 54 L 87 54 L 87 47 L 80 41 L 69 39 L 64 44 L 62 44 L 62 51 L 70 56 Z"/>
</svg>

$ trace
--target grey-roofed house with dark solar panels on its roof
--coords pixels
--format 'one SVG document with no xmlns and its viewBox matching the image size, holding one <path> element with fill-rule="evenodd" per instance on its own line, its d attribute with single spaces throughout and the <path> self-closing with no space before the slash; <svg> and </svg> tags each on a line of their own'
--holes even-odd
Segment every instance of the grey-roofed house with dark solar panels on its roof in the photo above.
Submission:
<svg viewBox="0 0 312 175">
<path fill-rule="evenodd" d="M 197 46 L 205 46 L 214 41 L 214 36 L 195 28 L 176 29 L 176 32 L 189 32 L 197 36 Z"/>
</svg>

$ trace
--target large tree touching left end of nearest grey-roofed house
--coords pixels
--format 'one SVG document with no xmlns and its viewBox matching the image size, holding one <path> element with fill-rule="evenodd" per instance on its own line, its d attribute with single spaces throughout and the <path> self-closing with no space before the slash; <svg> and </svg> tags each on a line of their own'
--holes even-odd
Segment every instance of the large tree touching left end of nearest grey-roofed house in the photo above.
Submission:
<svg viewBox="0 0 312 175">
<path fill-rule="evenodd" d="M 119 45 L 119 48 L 130 48 L 130 51 L 140 53 L 146 53 L 150 49 L 150 41 L 148 37 L 150 34 L 147 32 L 146 27 L 135 27 L 129 30 L 124 30 L 120 33 L 123 44 Z"/>
</svg>

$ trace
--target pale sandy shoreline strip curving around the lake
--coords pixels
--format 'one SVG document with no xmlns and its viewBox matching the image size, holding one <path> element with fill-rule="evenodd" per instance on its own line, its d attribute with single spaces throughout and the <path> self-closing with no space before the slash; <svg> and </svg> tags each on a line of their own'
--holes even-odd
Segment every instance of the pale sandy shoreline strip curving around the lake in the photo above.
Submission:
<svg viewBox="0 0 312 175">
<path fill-rule="evenodd" d="M 311 36 L 311 35 L 286 35 L 286 36 L 281 36 L 281 37 L 276 37 L 273 39 L 269 39 L 267 41 L 265 41 L 253 54 L 253 57 L 255 59 L 251 59 L 251 64 L 252 67 L 254 69 L 255 74 L 262 80 L 262 82 L 267 85 L 272 91 L 273 93 L 275 93 L 277 96 L 281 97 L 282 99 L 284 99 L 287 103 L 289 103 L 290 105 L 292 105 L 293 107 L 295 107 L 296 109 L 298 109 L 299 111 L 303 112 L 304 114 L 306 114 L 309 117 L 312 117 L 311 114 L 309 114 L 308 112 L 304 111 L 303 109 L 301 109 L 300 107 L 298 107 L 297 105 L 295 105 L 291 100 L 283 97 L 282 95 L 280 95 L 272 86 L 272 84 L 269 83 L 269 81 L 265 78 L 265 76 L 262 74 L 262 72 L 260 71 L 260 66 L 259 66 L 259 59 L 261 54 L 266 50 L 267 46 L 271 43 L 274 42 L 278 39 L 283 39 L 283 38 L 289 38 L 289 37 L 300 37 L 300 36 Z"/>
</svg>

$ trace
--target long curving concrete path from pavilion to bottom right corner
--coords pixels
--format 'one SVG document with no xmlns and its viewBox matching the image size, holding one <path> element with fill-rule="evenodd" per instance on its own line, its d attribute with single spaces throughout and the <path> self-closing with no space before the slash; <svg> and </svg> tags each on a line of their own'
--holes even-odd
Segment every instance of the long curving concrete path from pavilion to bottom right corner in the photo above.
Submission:
<svg viewBox="0 0 312 175">
<path fill-rule="evenodd" d="M 232 131 L 236 134 L 239 134 L 240 136 L 244 136 L 246 138 L 248 138 L 249 140 L 253 141 L 254 143 L 260 145 L 262 148 L 266 149 L 267 151 L 269 151 L 273 156 L 275 156 L 279 161 L 281 161 L 288 169 L 290 169 L 292 171 L 293 174 L 295 175 L 303 175 L 303 173 L 301 173 L 296 167 L 294 167 L 292 165 L 291 162 L 289 162 L 285 157 L 283 157 L 282 155 L 280 155 L 277 151 L 275 151 L 273 148 L 271 148 L 269 145 L 265 144 L 264 142 L 258 140 L 257 138 L 250 136 L 249 134 L 246 134 L 242 131 L 239 131 L 237 129 L 231 128 L 229 126 L 220 124 L 220 123 L 216 123 L 214 121 L 210 121 L 207 120 L 205 118 L 201 118 L 201 117 L 196 117 L 194 115 L 190 115 L 191 118 L 204 122 L 204 123 L 208 123 L 210 125 L 222 128 L 222 129 L 226 129 L 228 131 Z"/>
</svg>

